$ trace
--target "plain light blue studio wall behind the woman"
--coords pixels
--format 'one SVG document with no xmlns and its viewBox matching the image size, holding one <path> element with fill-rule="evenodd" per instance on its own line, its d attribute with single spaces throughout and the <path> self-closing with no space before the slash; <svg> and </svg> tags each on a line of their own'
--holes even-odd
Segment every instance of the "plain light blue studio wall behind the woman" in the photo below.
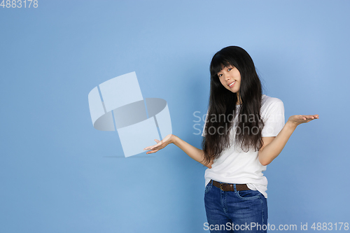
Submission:
<svg viewBox="0 0 350 233">
<path fill-rule="evenodd" d="M 200 148 L 193 114 L 206 113 L 209 63 L 228 45 L 251 55 L 286 121 L 320 115 L 267 166 L 269 224 L 349 223 L 349 9 L 346 0 L 1 6 L 0 232 L 209 232 L 205 167 L 174 145 L 123 157 L 117 132 L 92 127 L 87 94 L 136 71 L 144 98 L 169 104 L 173 134 Z"/>
</svg>

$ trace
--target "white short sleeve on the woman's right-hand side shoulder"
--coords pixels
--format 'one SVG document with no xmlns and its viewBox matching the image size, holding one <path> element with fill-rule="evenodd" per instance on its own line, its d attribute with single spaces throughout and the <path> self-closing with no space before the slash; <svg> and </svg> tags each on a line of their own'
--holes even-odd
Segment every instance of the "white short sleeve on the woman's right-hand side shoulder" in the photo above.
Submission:
<svg viewBox="0 0 350 233">
<path fill-rule="evenodd" d="M 261 136 L 277 136 L 285 125 L 284 106 L 281 100 L 272 103 L 267 107 L 267 111 L 262 114 L 265 126 L 262 129 Z"/>
</svg>

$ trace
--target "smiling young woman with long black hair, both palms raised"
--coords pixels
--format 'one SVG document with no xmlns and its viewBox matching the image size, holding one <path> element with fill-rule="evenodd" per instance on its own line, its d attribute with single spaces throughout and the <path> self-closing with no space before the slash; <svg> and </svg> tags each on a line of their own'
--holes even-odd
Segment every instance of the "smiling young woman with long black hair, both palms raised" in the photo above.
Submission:
<svg viewBox="0 0 350 233">
<path fill-rule="evenodd" d="M 292 115 L 285 123 L 280 99 L 262 94 L 248 52 L 229 46 L 210 64 L 211 90 L 202 150 L 169 134 L 144 150 L 174 143 L 208 167 L 204 204 L 210 232 L 266 232 L 267 178 L 262 174 L 286 146 L 297 125 L 318 115 Z"/>
</svg>

